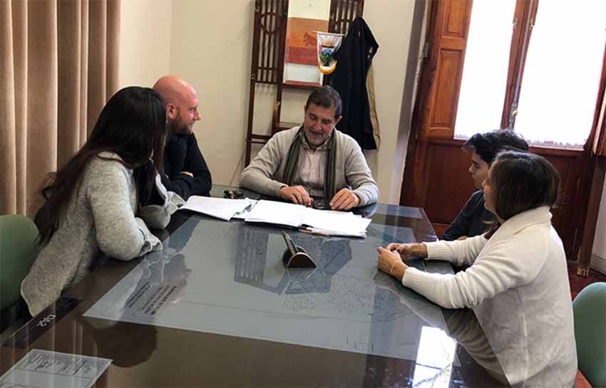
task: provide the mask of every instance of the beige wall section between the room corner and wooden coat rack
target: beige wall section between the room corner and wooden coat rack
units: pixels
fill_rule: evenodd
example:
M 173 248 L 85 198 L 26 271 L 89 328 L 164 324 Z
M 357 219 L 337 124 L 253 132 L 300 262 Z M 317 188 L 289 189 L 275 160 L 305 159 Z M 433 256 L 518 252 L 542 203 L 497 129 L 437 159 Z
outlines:
M 173 3 L 170 71 L 198 92 L 202 121 L 195 135 L 212 181 L 237 184 L 248 117 L 252 0 Z

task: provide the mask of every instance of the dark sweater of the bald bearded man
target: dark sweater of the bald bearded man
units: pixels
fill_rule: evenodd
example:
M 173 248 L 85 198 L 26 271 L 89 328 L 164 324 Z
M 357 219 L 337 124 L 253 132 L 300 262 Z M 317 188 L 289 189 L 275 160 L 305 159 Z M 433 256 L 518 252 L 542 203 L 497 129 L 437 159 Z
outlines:
M 191 172 L 193 177 L 181 172 Z M 194 134 L 171 134 L 164 150 L 162 183 L 170 192 L 187 200 L 190 195 L 208 195 L 212 187 L 210 170 L 200 152 Z

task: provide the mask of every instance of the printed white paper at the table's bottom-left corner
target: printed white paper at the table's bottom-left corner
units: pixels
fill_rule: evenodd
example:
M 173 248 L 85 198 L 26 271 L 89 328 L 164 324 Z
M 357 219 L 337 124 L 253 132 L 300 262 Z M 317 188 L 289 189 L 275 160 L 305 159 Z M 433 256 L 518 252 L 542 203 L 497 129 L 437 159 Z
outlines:
M 108 358 L 32 349 L 0 377 L 0 388 L 90 388 L 111 362 Z

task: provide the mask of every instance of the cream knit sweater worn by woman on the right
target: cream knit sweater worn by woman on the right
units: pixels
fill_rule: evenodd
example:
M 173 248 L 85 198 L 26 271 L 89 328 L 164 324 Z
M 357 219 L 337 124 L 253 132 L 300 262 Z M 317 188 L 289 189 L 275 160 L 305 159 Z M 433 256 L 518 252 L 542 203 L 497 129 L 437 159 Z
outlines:
M 445 308 L 473 308 L 510 384 L 572 387 L 577 353 L 566 257 L 548 207 L 520 213 L 486 240 L 426 243 L 456 275 L 409 268 L 402 283 Z

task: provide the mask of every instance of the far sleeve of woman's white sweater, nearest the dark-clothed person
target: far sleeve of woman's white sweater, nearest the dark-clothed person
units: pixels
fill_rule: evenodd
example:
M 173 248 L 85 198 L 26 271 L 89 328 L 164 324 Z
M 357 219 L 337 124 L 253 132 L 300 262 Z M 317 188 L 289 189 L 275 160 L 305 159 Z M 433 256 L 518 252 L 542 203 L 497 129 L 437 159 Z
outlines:
M 428 260 L 446 260 L 457 266 L 471 266 L 488 240 L 483 235 L 455 241 L 435 241 L 424 243 Z

